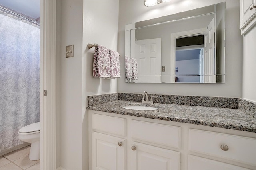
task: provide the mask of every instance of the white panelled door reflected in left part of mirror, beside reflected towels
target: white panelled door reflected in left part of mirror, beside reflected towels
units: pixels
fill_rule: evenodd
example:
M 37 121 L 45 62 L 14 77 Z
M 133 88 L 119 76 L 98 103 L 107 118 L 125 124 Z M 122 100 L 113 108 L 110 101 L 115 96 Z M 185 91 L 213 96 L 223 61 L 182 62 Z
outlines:
M 138 80 L 134 82 L 161 82 L 161 38 L 135 41 L 138 60 Z

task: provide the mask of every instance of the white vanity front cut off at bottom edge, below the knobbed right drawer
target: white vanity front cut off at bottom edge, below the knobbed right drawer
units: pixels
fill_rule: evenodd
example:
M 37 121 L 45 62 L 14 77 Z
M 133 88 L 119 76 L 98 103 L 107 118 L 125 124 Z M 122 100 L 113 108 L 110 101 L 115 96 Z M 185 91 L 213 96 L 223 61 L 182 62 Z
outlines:
M 188 155 L 188 170 L 249 170 L 240 166 Z

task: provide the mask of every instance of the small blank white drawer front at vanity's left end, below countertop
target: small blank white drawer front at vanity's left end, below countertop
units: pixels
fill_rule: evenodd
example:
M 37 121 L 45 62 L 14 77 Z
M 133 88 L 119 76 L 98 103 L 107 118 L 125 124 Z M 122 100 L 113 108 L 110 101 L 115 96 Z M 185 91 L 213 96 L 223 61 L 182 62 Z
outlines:
M 125 136 L 126 119 L 92 113 L 92 129 Z

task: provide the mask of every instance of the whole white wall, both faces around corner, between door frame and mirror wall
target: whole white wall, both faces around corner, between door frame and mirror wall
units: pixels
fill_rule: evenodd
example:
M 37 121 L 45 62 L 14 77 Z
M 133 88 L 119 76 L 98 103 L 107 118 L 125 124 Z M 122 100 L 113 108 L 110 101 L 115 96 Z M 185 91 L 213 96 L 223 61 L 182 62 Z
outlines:
M 87 44 L 117 51 L 118 0 L 58 0 L 57 17 L 57 167 L 87 170 L 86 97 L 117 92 L 117 80 L 92 77 L 94 47 Z M 65 58 L 72 44 L 74 57 Z

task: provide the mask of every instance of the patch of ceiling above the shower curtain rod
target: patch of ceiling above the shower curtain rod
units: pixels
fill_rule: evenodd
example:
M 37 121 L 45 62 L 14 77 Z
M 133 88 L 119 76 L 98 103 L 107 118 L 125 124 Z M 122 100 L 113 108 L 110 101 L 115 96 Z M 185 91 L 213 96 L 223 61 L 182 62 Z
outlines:
M 0 5 L 35 19 L 40 17 L 40 0 L 0 0 Z

